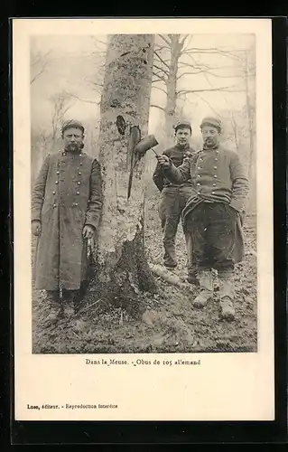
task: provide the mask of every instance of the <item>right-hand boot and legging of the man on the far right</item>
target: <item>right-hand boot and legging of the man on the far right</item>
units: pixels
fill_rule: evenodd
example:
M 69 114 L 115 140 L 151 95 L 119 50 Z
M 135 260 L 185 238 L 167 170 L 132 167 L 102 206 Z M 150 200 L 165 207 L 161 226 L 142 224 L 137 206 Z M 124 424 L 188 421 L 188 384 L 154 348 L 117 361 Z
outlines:
M 234 276 L 230 272 L 218 272 L 220 317 L 224 320 L 235 319 Z

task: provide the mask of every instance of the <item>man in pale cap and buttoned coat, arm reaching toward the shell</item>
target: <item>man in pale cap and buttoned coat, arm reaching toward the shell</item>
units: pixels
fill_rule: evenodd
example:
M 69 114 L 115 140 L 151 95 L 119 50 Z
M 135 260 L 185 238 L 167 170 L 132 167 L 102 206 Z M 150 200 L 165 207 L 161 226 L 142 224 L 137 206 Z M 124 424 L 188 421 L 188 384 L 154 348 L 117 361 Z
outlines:
M 248 181 L 237 153 L 220 144 L 221 122 L 204 118 L 200 129 L 204 145 L 195 158 L 178 168 L 165 155 L 158 157 L 158 163 L 172 182 L 193 180 L 193 193 L 182 212 L 200 280 L 200 294 L 193 306 L 206 306 L 213 297 L 211 269 L 215 268 L 220 315 L 233 320 L 234 266 L 244 255 L 241 226 Z

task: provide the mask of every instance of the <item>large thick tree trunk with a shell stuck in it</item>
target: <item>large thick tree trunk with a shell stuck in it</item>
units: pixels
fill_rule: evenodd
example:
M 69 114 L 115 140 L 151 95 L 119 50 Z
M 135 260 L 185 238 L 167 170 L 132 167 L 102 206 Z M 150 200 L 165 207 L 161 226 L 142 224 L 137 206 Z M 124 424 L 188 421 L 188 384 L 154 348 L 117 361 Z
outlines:
M 135 306 L 142 291 L 155 288 L 144 253 L 144 158 L 132 160 L 140 131 L 141 137 L 148 131 L 152 67 L 153 35 L 109 38 L 100 107 L 98 145 L 104 204 L 95 283 L 116 306 Z

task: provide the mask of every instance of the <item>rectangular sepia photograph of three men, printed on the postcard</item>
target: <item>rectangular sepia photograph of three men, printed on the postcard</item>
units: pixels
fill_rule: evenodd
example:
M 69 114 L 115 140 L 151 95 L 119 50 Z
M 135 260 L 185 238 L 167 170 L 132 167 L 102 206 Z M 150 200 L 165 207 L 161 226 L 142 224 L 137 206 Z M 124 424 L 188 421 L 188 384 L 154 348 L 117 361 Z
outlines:
M 256 353 L 255 34 L 29 49 L 33 353 Z

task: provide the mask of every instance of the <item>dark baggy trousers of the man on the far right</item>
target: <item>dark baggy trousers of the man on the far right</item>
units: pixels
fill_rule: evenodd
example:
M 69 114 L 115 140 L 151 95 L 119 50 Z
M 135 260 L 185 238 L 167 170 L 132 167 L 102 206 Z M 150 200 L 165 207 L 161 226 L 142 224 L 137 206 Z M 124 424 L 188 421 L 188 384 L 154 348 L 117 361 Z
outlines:
M 198 270 L 233 271 L 236 221 L 237 212 L 222 202 L 201 202 L 187 215 Z

